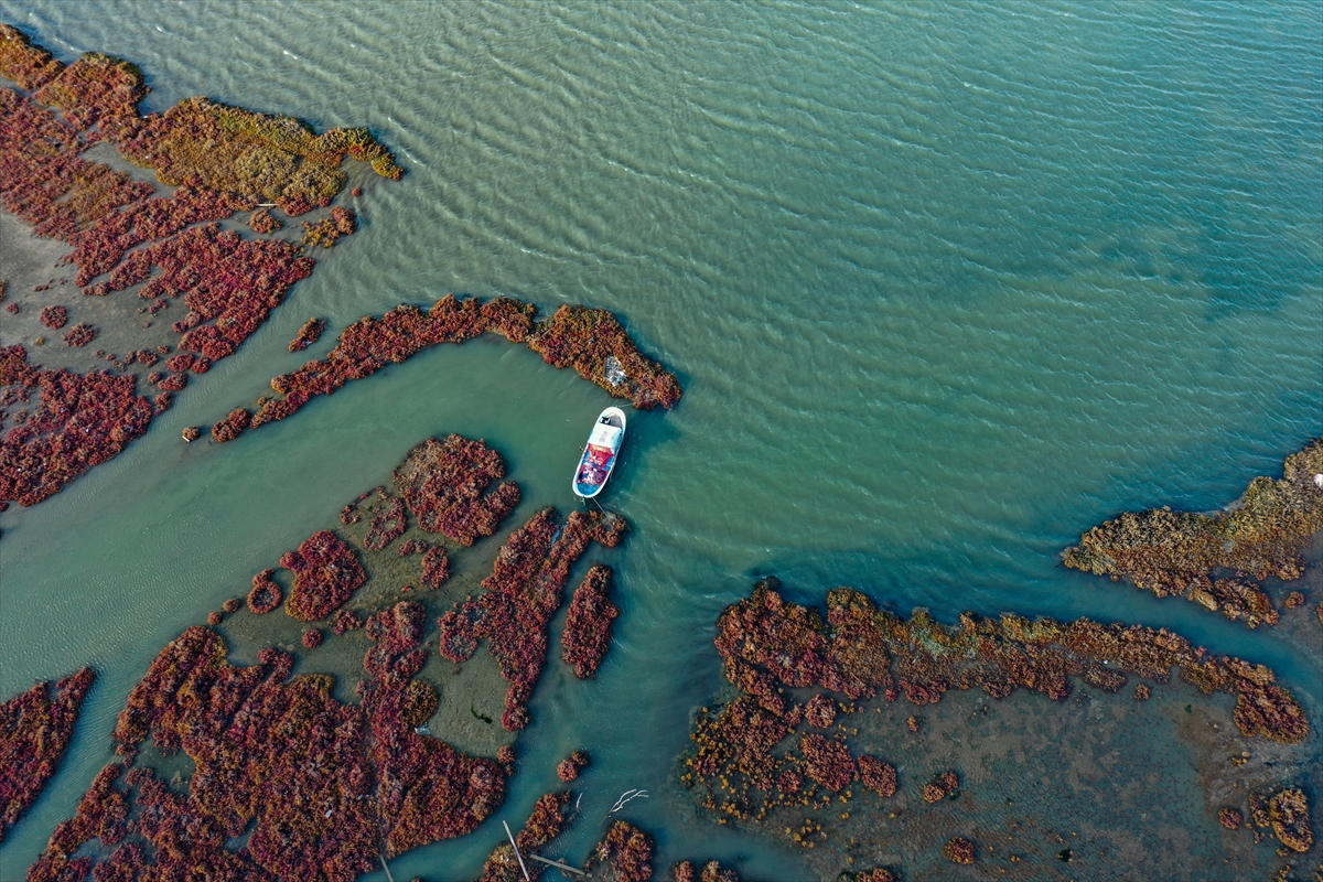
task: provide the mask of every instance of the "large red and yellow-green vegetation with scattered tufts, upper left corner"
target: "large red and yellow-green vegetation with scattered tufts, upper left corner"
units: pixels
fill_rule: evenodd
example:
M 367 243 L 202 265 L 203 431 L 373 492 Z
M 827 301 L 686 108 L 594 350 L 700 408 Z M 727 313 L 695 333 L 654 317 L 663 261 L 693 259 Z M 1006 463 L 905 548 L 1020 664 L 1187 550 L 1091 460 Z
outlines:
M 36 235 L 71 246 L 65 261 L 78 266 L 75 284 L 83 294 L 107 295 L 146 282 L 140 295 L 152 300 L 146 308 L 152 316 L 169 305 L 167 298 L 187 295 L 189 313 L 175 331 L 187 336 L 185 348 L 208 360 L 225 357 L 251 335 L 290 284 L 311 272 L 312 261 L 287 242 L 241 242 L 214 223 L 194 225 L 261 200 L 278 200 L 291 210 L 328 205 L 344 185 L 337 167 L 345 156 L 370 163 L 386 177 L 401 173 L 361 128 L 315 135 L 298 120 L 205 98 L 140 116 L 138 104 L 148 90 L 131 63 L 87 53 L 65 66 L 8 25 L 0 25 L 0 74 L 32 93 L 0 90 L 0 206 Z M 151 184 L 83 159 L 97 141 L 114 144 L 179 189 L 159 198 Z M 250 222 L 263 230 L 278 226 L 265 212 Z M 337 234 L 353 226 L 347 209 L 332 209 L 331 222 Z M 105 274 L 105 282 L 94 283 Z M 8 308 L 19 311 L 17 304 Z M 64 325 L 60 309 L 45 313 L 53 328 Z M 83 346 L 95 335 L 79 324 L 65 342 Z M 194 373 L 204 373 L 208 360 L 194 362 Z M 172 377 L 163 391 L 179 391 L 184 382 Z M 168 405 L 168 398 L 157 399 L 157 410 Z M 70 461 L 79 463 L 77 473 L 86 471 L 83 459 Z

